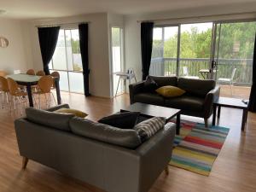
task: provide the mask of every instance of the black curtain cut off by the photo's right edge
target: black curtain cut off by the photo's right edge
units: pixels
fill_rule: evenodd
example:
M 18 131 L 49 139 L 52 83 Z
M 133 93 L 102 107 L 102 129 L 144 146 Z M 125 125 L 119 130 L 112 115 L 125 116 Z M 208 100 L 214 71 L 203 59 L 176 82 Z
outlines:
M 255 34 L 255 43 L 254 43 L 254 52 L 253 52 L 253 84 L 250 94 L 250 100 L 248 109 L 251 112 L 256 112 L 256 34 Z

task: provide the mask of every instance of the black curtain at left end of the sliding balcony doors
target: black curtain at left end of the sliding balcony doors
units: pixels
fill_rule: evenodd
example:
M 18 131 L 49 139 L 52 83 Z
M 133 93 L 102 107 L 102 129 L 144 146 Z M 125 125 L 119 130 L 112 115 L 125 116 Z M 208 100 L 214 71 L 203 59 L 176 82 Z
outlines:
M 152 46 L 153 46 L 153 22 L 143 22 L 141 24 L 141 48 L 142 48 L 142 64 L 143 64 L 143 80 L 149 73 Z

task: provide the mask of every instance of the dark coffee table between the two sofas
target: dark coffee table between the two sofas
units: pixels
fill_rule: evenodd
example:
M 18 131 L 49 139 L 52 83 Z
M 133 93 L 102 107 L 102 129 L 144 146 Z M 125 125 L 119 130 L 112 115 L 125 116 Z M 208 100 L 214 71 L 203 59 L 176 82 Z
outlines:
M 123 111 L 131 111 L 131 112 L 140 112 L 143 116 L 152 118 L 152 117 L 163 117 L 166 118 L 166 123 L 169 122 L 170 119 L 176 116 L 176 133 L 179 135 L 180 129 L 180 109 L 176 108 L 165 108 L 157 105 L 150 105 L 141 102 L 135 102 L 131 104 L 127 108 L 122 108 Z

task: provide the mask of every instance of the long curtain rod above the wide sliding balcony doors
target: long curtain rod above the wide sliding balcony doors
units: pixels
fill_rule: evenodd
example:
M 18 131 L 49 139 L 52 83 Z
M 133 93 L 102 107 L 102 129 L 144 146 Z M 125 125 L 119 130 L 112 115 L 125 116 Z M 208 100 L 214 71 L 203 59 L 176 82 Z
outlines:
M 243 12 L 243 13 L 232 13 L 232 14 L 220 14 L 220 15 L 203 15 L 203 16 L 193 16 L 193 17 L 177 17 L 177 18 L 165 18 L 165 19 L 157 19 L 157 20 L 137 20 L 138 23 L 141 22 L 154 22 L 154 21 L 165 21 L 165 20 L 184 20 L 184 19 L 201 19 L 201 18 L 207 18 L 207 17 L 216 17 L 216 16 L 232 16 L 232 15 L 247 15 L 247 14 L 255 14 L 256 19 L 256 12 Z

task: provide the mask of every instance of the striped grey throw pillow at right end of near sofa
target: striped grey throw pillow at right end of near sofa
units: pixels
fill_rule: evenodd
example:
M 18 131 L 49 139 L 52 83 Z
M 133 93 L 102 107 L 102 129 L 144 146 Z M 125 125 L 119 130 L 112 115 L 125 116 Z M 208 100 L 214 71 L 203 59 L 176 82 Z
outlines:
M 162 117 L 154 117 L 137 124 L 134 129 L 138 132 L 142 142 L 153 137 L 154 134 L 166 125 L 166 119 Z

